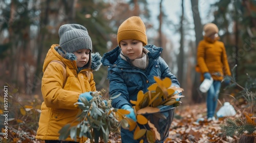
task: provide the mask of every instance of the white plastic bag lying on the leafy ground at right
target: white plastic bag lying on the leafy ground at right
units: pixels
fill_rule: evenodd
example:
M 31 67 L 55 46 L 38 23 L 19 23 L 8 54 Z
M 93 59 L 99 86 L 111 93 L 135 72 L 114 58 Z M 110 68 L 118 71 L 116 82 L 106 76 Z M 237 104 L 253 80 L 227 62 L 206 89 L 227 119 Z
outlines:
M 229 102 L 225 102 L 224 105 L 217 112 L 217 117 L 234 116 L 237 112 Z

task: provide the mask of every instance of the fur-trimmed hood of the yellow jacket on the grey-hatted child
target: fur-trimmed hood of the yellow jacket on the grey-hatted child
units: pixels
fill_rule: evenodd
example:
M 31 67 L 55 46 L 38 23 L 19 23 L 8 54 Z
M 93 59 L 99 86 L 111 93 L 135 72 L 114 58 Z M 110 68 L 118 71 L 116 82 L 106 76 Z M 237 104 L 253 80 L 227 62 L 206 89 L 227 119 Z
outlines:
M 91 65 L 91 70 L 99 70 L 100 66 L 101 66 L 101 56 L 99 53 L 92 53 L 91 54 L 91 58 L 92 58 L 92 65 Z M 48 64 L 52 61 L 52 60 L 58 60 L 58 61 L 62 61 L 63 63 L 65 63 L 69 68 L 76 68 L 76 60 L 77 57 L 73 54 L 73 53 L 66 53 L 59 48 L 58 44 L 53 44 L 50 48 L 50 50 L 48 51 L 45 61 L 44 61 L 44 65 L 42 68 L 42 71 L 45 71 L 46 67 L 48 66 Z M 81 67 L 81 69 L 83 69 L 83 67 Z M 79 70 L 81 70 L 79 69 Z M 77 69 L 78 70 L 78 69 Z

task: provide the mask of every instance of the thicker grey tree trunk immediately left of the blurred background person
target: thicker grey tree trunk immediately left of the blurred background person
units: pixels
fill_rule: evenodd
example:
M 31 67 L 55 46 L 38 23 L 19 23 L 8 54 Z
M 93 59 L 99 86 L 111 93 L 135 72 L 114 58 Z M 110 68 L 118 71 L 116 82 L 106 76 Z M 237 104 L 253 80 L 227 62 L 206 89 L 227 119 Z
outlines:
M 195 25 L 195 33 L 196 33 L 196 48 L 195 48 L 195 57 L 197 57 L 197 46 L 199 41 L 202 39 L 202 24 L 201 24 L 201 18 L 200 18 L 200 13 L 198 10 L 198 0 L 191 0 L 191 9 L 193 12 L 193 18 L 194 18 L 194 25 Z M 195 60 L 196 61 L 196 60 Z M 196 61 L 197 62 L 197 61 Z M 196 65 L 196 63 L 195 63 Z M 195 103 L 200 103 L 202 102 L 202 99 L 198 95 L 198 87 L 200 86 L 200 74 L 195 73 L 194 77 L 194 84 L 192 88 L 192 99 Z

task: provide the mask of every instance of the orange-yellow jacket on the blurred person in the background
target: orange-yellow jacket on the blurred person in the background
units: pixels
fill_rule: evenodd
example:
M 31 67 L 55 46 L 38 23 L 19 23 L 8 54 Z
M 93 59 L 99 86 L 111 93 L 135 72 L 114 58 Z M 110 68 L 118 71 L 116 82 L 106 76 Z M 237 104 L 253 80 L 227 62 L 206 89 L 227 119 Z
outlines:
M 197 50 L 201 81 L 204 80 L 203 74 L 206 72 L 210 73 L 211 77 L 217 81 L 223 80 L 224 75 L 231 75 L 223 42 L 204 37 L 204 40 L 199 42 Z

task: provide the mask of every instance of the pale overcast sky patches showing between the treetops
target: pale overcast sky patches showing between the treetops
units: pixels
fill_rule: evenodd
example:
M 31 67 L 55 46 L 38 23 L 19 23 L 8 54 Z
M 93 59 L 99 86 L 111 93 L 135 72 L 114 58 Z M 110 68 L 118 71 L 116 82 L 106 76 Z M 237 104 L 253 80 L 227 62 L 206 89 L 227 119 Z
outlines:
M 200 17 L 202 25 L 204 25 L 207 22 L 211 22 L 214 17 L 209 14 L 209 6 L 210 4 L 216 3 L 218 0 L 214 1 L 205 1 L 205 0 L 199 0 L 199 11 L 200 11 Z M 159 2 L 160 0 L 147 0 L 149 4 L 149 9 L 151 10 L 152 20 L 157 18 L 159 15 Z M 168 20 L 172 20 L 175 25 L 180 24 L 180 16 L 181 16 L 181 1 L 175 1 L 175 0 L 163 0 L 163 10 L 165 14 L 168 16 Z M 191 29 L 194 28 L 194 20 L 193 20 L 193 14 L 191 11 L 191 2 L 190 0 L 184 0 L 184 17 L 188 20 L 188 23 L 186 24 L 186 27 L 189 27 Z M 156 20 L 157 21 L 157 20 Z M 158 24 L 154 25 L 156 29 L 158 29 Z M 177 29 L 173 26 L 166 27 L 163 26 L 162 31 L 170 37 L 170 40 L 173 41 L 175 45 L 175 49 L 179 48 L 179 39 L 180 35 L 177 32 Z M 176 34 L 177 33 L 177 34 Z M 192 36 L 191 36 L 192 35 Z M 190 38 L 192 40 L 195 40 L 195 32 L 191 31 L 189 35 L 187 35 L 187 38 Z

